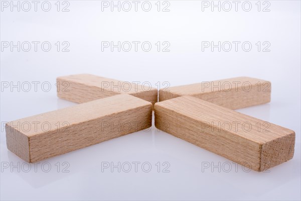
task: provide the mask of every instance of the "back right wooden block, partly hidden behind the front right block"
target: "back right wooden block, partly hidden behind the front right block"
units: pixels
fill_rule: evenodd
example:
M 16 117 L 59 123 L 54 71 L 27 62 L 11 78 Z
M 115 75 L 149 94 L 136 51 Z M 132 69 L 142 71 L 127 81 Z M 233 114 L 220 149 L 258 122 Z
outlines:
M 271 83 L 251 77 L 235 77 L 174 86 L 161 89 L 159 91 L 159 101 L 182 95 L 191 95 L 235 110 L 270 102 Z

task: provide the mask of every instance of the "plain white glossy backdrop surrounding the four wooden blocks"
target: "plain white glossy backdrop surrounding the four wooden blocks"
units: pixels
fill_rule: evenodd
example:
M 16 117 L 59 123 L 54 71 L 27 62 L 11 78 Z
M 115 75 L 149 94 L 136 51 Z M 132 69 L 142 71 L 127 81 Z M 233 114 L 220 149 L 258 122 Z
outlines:
M 37 51 L 34 46 L 29 52 L 22 48 L 20 52 L 17 48 L 1 51 L 2 86 L 10 83 L 1 92 L 1 163 L 10 165 L 1 172 L 1 199 L 300 200 L 300 1 L 269 1 L 270 12 L 262 12 L 267 6 L 263 2 L 258 12 L 257 1 L 250 1 L 249 12 L 243 11 L 242 2 L 237 12 L 233 3 L 229 12 L 217 8 L 202 11 L 201 1 L 169 1 L 170 12 L 158 12 L 156 2 L 151 2 L 149 12 L 141 9 L 142 2 L 137 12 L 134 8 L 129 12 L 104 8 L 102 12 L 101 1 L 69 1 L 69 12 L 61 12 L 67 5 L 62 2 L 58 12 L 56 1 L 50 2 L 49 12 L 41 9 L 42 2 L 37 12 L 34 4 L 29 12 L 2 7 L 2 42 L 49 41 L 52 47 L 48 52 L 41 45 Z M 57 41 L 61 45 L 67 41 L 69 52 L 58 52 Z M 152 49 L 144 52 L 138 46 L 137 52 L 118 52 L 117 48 L 101 51 L 101 41 L 149 41 Z M 158 41 L 168 41 L 170 51 L 158 52 Z M 246 52 L 240 45 L 237 52 L 234 47 L 229 52 L 217 48 L 202 51 L 202 41 L 249 41 L 252 49 Z M 270 51 L 258 52 L 258 41 L 261 45 L 269 42 Z M 268 172 L 248 172 L 153 126 L 149 132 L 136 132 L 41 161 L 37 172 L 34 165 L 25 172 L 27 164 L 7 149 L 3 122 L 75 105 L 56 96 L 55 82 L 57 76 L 76 73 L 149 81 L 154 87 L 159 81 L 175 86 L 236 76 L 269 80 L 269 104 L 237 111 L 294 130 L 294 157 Z M 40 81 L 37 92 L 34 85 L 29 92 L 11 88 L 11 84 L 26 81 Z M 51 83 L 51 90 L 43 91 L 42 82 Z M 11 169 L 18 162 L 20 172 Z M 42 170 L 46 162 L 51 165 L 49 172 Z M 140 165 L 137 172 L 134 166 L 130 172 L 118 172 L 117 168 L 102 172 L 102 162 Z M 149 172 L 141 169 L 143 162 L 152 165 Z M 163 172 L 163 162 L 170 164 L 170 172 Z M 218 168 L 202 168 L 208 163 L 220 166 L 220 172 Z M 229 164 L 232 167 L 227 172 Z M 63 172 L 67 165 L 69 172 Z

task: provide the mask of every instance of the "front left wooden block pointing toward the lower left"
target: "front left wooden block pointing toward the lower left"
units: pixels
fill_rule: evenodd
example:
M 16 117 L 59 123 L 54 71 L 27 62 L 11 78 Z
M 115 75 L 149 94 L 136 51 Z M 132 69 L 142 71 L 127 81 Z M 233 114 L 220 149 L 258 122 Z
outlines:
M 152 126 L 152 104 L 119 94 L 7 124 L 8 149 L 36 162 Z

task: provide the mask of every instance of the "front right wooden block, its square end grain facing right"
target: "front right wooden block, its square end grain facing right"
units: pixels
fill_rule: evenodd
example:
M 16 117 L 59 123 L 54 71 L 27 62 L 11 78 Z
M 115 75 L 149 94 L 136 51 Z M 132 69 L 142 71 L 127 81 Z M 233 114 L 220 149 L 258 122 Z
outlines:
M 292 158 L 292 130 L 193 96 L 155 104 L 158 129 L 234 162 L 263 171 Z

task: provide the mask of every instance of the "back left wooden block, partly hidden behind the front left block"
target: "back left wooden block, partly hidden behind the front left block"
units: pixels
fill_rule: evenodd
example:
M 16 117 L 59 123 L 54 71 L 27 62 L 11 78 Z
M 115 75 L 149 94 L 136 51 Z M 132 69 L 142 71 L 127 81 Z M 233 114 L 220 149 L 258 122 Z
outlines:
M 130 94 L 153 105 L 158 100 L 158 89 L 137 82 L 126 82 L 90 74 L 77 74 L 57 78 L 58 96 L 75 103 L 85 103 L 116 94 Z

